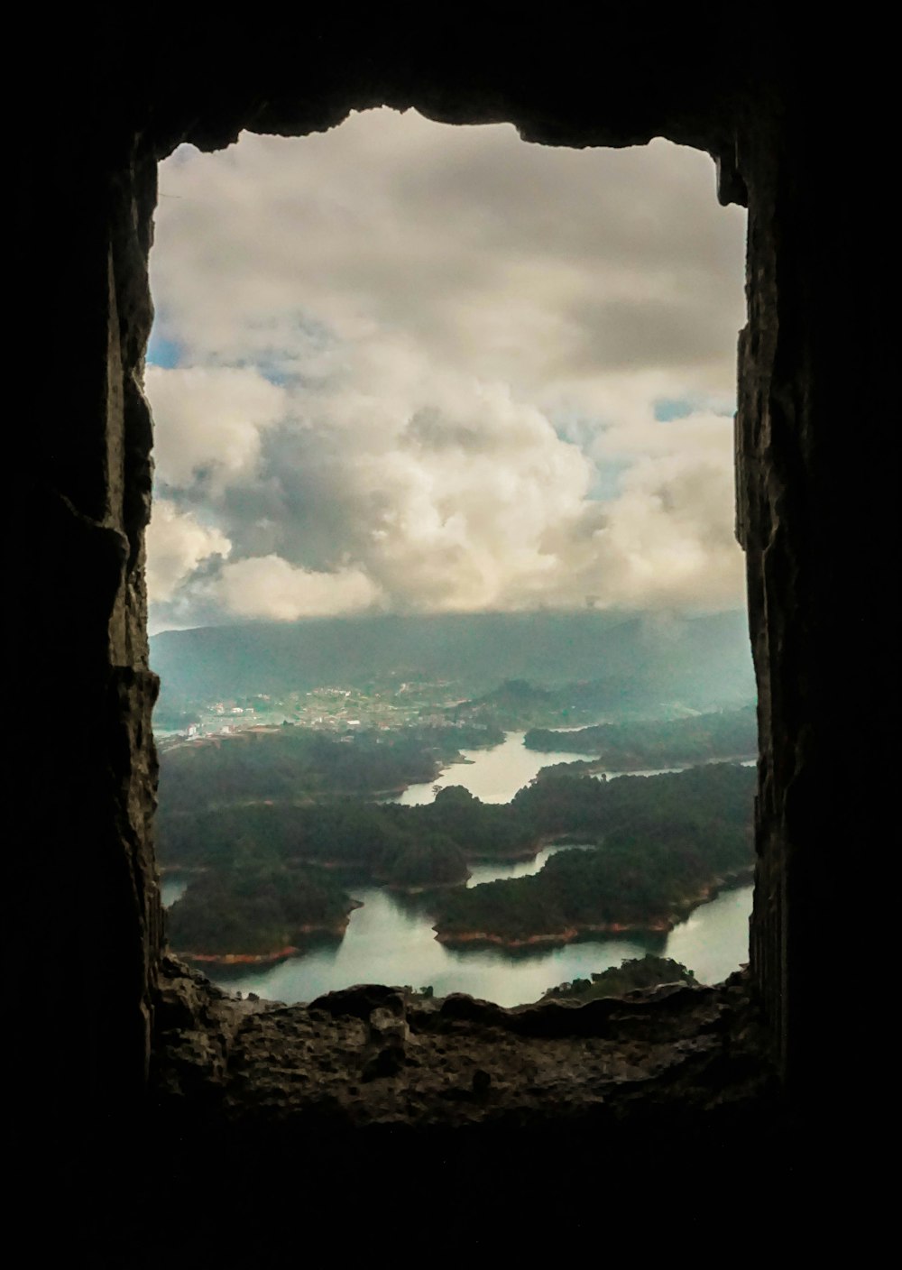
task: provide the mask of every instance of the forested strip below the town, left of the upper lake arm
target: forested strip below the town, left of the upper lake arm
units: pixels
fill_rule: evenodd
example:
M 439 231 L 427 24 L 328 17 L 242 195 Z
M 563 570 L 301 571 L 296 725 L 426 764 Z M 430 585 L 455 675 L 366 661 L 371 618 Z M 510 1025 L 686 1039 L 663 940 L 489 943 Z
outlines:
M 338 738 L 310 728 L 241 732 L 166 751 L 160 761 L 165 812 L 255 800 L 375 794 L 432 781 L 461 747 L 497 745 L 495 728 L 419 726 Z

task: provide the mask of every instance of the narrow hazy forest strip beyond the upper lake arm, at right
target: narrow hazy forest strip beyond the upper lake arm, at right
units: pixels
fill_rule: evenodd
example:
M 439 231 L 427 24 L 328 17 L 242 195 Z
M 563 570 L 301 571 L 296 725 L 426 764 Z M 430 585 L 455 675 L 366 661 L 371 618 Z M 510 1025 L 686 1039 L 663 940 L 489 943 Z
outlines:
M 526 733 L 527 749 L 597 754 L 611 771 L 673 763 L 704 763 L 757 753 L 755 706 L 692 715 L 689 719 L 598 724 L 574 732 L 536 728 Z

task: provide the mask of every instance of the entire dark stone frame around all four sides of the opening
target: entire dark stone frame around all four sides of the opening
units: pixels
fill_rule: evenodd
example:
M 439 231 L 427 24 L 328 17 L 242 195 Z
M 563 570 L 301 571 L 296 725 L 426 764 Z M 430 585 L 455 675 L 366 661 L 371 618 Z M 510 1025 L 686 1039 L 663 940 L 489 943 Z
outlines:
M 825 27 L 818 33 L 825 44 L 813 56 L 809 28 L 793 33 L 785 23 L 750 23 L 725 10 L 717 20 L 662 13 L 654 24 L 644 10 L 611 11 L 605 30 L 586 39 L 565 22 L 544 22 L 541 29 L 506 23 L 501 30 L 487 18 L 474 32 L 448 20 L 438 43 L 384 15 L 361 19 L 353 30 L 310 15 L 310 29 L 293 41 L 276 39 L 263 27 L 239 38 L 206 14 L 185 13 L 180 38 L 163 48 L 147 41 L 144 15 L 127 10 L 116 24 L 105 14 L 91 23 L 90 38 L 83 30 L 69 39 L 71 20 L 64 17 L 58 29 L 34 42 L 46 74 L 36 91 L 38 123 L 23 146 L 25 216 L 13 262 L 20 271 L 20 325 L 29 333 L 18 375 L 41 387 L 25 403 L 27 424 L 17 429 L 24 479 L 10 483 L 15 593 L 29 615 L 17 665 L 47 668 L 48 682 L 60 686 L 79 719 L 74 743 L 71 729 L 33 707 L 34 677 L 13 677 L 14 701 L 22 704 L 11 761 L 18 794 L 41 810 L 30 824 L 30 850 L 13 853 L 10 879 L 11 940 L 34 949 L 32 973 L 17 983 L 17 1036 L 25 1038 L 14 1046 L 20 1083 L 13 1114 L 27 1144 L 22 1168 L 30 1162 L 46 1190 L 70 1199 L 72 1179 L 81 1179 L 79 1198 L 90 1199 L 80 1206 L 84 1218 L 97 1208 L 98 1167 L 123 1203 L 138 1208 L 135 1180 L 156 1181 L 158 1166 L 172 1163 L 173 1133 L 180 1142 L 212 1142 L 215 1158 L 230 1167 L 252 1144 L 271 1165 L 297 1168 L 299 1160 L 311 1158 L 318 1167 L 326 1160 L 340 1165 L 353 1143 L 360 1156 L 347 1153 L 342 1176 L 358 1194 L 367 1167 L 376 1177 L 387 1172 L 380 1151 L 399 1139 L 415 1142 L 409 1158 L 421 1166 L 448 1158 L 454 1143 L 462 1177 L 468 1142 L 470 1160 L 485 1163 L 481 1180 L 504 1167 L 513 1176 L 527 1142 L 520 1129 L 530 1128 L 530 1147 L 541 1139 L 560 1163 L 555 1212 L 564 1214 L 573 1194 L 596 1212 L 597 1195 L 586 1189 L 565 1195 L 574 1175 L 563 1162 L 593 1158 L 600 1132 L 631 1124 L 644 1148 L 663 1149 L 675 1137 L 689 1146 L 717 1138 L 730 1158 L 748 1161 L 748 1194 L 772 1184 L 774 1195 L 791 1194 L 794 1206 L 798 1190 L 784 1167 L 791 1134 L 780 1099 L 790 1099 L 808 1134 L 808 1163 L 817 1163 L 819 1151 L 836 1161 L 830 1135 L 849 1128 L 856 1106 L 849 1080 L 856 1068 L 847 1063 L 837 998 L 854 999 L 860 983 L 852 991 L 849 966 L 831 965 L 825 974 L 823 914 L 845 911 L 850 845 L 858 851 L 884 839 L 894 789 L 874 772 L 875 756 L 894 747 L 892 716 L 873 679 L 875 665 L 894 659 L 878 585 L 891 561 L 887 544 L 894 542 L 894 470 L 874 462 L 873 446 L 858 444 L 885 433 L 885 399 L 875 386 L 885 367 L 888 296 L 875 279 L 884 277 L 887 239 L 879 199 L 861 197 L 852 180 L 826 180 L 844 147 L 859 170 L 884 166 L 878 124 L 888 114 L 880 97 L 891 76 L 875 66 L 873 30 L 865 38 L 865 24 L 855 18 L 836 30 Z M 747 202 L 750 212 L 737 425 L 738 527 L 748 560 L 761 739 L 750 974 L 734 989 L 736 1010 L 715 993 L 699 1027 L 690 1026 L 680 1001 L 656 1011 L 654 1022 L 650 1011 L 605 1022 L 609 1039 L 616 1033 L 625 1043 L 623 1029 L 631 1030 L 630 1043 L 647 1055 L 658 1025 L 657 1035 L 683 1054 L 701 1055 L 701 1036 L 720 1038 L 723 1046 L 708 1050 L 704 1078 L 691 1064 L 685 1085 L 657 1082 L 647 1072 L 652 1078 L 640 1086 L 619 1083 L 623 1102 L 617 1095 L 589 1105 L 569 1078 L 542 1082 L 550 1068 L 536 1041 L 528 1071 L 520 1068 L 528 1099 L 493 1104 L 493 1090 L 501 1096 L 504 1085 L 517 1082 L 479 1064 L 488 1086 L 471 1068 L 469 1083 L 451 1086 L 466 1097 L 442 1101 L 459 1113 L 454 1128 L 447 1116 L 421 1111 L 426 1132 L 415 1138 L 408 1135 L 415 1109 L 399 1116 L 380 1102 L 390 1076 L 366 1082 L 362 1097 L 372 1101 L 361 1115 L 371 1116 L 371 1137 L 358 1132 L 361 1119 L 328 1097 L 314 1115 L 291 1113 L 279 1054 L 285 1045 L 314 1053 L 311 1033 L 332 1029 L 329 1019 L 263 1019 L 257 1043 L 240 1041 L 241 1063 L 226 1092 L 225 1053 L 240 1033 L 220 1001 L 175 972 L 161 945 L 152 864 L 155 683 L 141 577 L 151 427 L 140 377 L 151 323 L 146 258 L 156 160 L 187 138 L 216 147 L 243 127 L 302 135 L 335 123 L 349 108 L 386 103 L 447 122 L 506 118 L 546 144 L 626 145 L 652 135 L 694 144 L 718 156 L 724 196 Z M 75 126 L 62 128 L 64 118 Z M 66 244 L 77 250 L 56 249 L 64 226 Z M 837 314 L 854 314 L 855 321 L 837 321 Z M 48 339 L 32 338 L 46 331 L 48 319 L 67 320 L 52 361 Z M 868 791 L 866 799 L 838 796 L 837 756 L 845 785 Z M 69 968 L 64 975 L 61 966 Z M 86 991 L 89 980 L 100 980 L 103 992 Z M 390 1021 L 372 1015 L 393 1015 L 391 1002 L 356 1008 L 334 1026 L 382 1027 L 387 1035 Z M 744 1022 L 729 1022 L 743 1011 Z M 682 1034 L 681 1019 L 689 1029 Z M 503 1049 L 522 1053 L 520 1038 L 494 1017 L 446 1022 L 448 1036 L 455 1029 L 460 1038 L 468 1029 L 483 1039 L 501 1031 Z M 415 1026 L 414 1020 L 414 1033 Z M 559 1022 L 528 1026 L 548 1034 Z M 367 1044 L 368 1036 L 365 1031 Z M 550 1043 L 546 1035 L 539 1040 Z M 427 1048 L 443 1044 L 432 1035 Z M 559 1076 L 586 1060 L 574 1036 L 567 1045 L 563 1063 L 551 1064 Z M 163 1085 L 160 1064 L 173 1048 L 180 1050 L 180 1076 Z M 772 1062 L 771 1083 L 748 1083 L 751 1055 L 758 1073 L 762 1062 Z M 670 1101 L 667 1088 L 675 1092 Z M 588 1090 L 584 1085 L 583 1093 Z M 91 1170 L 84 1168 L 85 1142 L 99 1144 Z M 363 1151 L 365 1142 L 372 1151 Z M 311 1144 L 325 1152 L 329 1143 L 334 1154 L 310 1153 Z M 400 1152 L 391 1156 L 399 1158 Z M 198 1172 L 191 1153 L 180 1167 L 185 1180 Z M 426 1201 L 424 1190 L 417 1194 Z M 389 1198 L 386 1187 L 380 1195 Z M 769 1206 L 770 1199 L 762 1204 Z M 644 1231 L 648 1212 L 642 1215 Z M 194 1212 L 183 1229 L 191 1233 L 192 1223 Z M 221 1242 L 240 1234 L 232 1223 Z

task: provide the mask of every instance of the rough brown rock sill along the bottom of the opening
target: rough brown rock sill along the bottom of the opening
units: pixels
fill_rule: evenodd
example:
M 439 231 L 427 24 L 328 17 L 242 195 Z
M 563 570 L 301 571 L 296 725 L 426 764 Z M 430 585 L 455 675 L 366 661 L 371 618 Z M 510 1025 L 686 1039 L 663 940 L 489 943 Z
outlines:
M 240 1001 L 175 961 L 160 998 L 154 1096 L 179 1118 L 203 1093 L 234 1125 L 306 1132 L 396 1124 L 664 1119 L 766 1105 L 779 1115 L 743 975 L 586 1005 L 506 1010 L 360 986 L 307 1006 Z M 761 1104 L 760 1100 L 764 1100 Z

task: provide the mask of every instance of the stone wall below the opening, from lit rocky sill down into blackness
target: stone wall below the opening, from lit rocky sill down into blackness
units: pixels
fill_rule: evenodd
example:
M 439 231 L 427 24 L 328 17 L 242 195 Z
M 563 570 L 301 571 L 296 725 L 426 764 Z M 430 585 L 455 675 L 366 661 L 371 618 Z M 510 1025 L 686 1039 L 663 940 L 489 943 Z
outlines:
M 235 1001 L 175 959 L 164 983 L 147 1142 L 179 1196 L 154 1245 L 166 1264 L 173 1247 L 255 1264 L 263 1243 L 296 1256 L 318 1237 L 438 1265 L 531 1266 L 587 1242 L 635 1256 L 657 1233 L 672 1251 L 734 1228 L 765 1170 L 776 1190 L 798 1167 L 742 974 L 517 1010 L 377 986 Z

